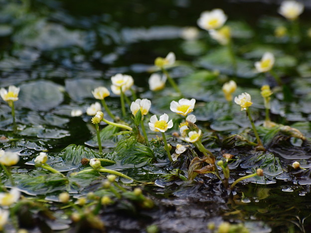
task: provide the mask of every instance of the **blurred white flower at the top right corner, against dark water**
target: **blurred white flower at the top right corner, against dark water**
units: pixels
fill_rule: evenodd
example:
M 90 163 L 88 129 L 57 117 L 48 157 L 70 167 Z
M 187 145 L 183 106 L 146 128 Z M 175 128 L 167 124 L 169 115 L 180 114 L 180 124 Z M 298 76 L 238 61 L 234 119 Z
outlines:
M 283 1 L 279 13 L 290 20 L 295 20 L 304 11 L 304 4 L 294 0 Z

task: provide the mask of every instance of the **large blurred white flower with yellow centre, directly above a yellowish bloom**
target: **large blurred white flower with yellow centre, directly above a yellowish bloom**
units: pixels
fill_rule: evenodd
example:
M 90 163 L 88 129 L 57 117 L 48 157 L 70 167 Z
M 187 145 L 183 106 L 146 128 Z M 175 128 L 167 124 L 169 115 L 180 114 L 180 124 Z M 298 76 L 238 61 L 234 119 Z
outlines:
M 222 27 L 226 20 L 227 16 L 222 9 L 213 9 L 202 12 L 200 18 L 197 20 L 197 24 L 202 29 L 211 30 Z

